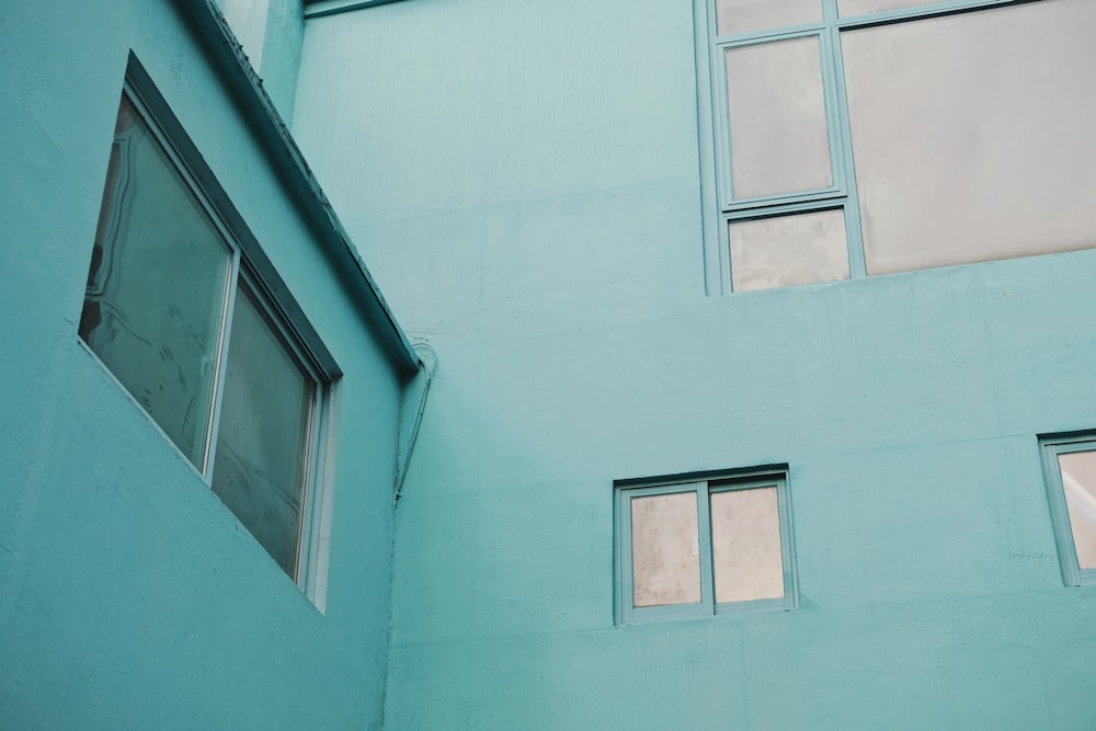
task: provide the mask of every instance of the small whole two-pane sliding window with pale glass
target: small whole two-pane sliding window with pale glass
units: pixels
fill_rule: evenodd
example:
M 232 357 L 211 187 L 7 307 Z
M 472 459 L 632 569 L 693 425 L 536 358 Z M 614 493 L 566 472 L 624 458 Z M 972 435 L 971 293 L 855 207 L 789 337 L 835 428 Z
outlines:
M 798 603 L 786 468 L 616 486 L 619 624 Z

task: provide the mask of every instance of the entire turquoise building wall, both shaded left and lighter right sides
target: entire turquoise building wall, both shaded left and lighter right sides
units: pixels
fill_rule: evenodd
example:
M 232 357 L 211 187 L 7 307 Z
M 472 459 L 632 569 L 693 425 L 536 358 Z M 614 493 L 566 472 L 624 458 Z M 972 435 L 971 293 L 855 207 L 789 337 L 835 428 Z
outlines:
M 422 378 L 198 4 L 0 14 L 0 728 L 1093 728 L 1037 435 L 1096 427 L 1096 250 L 710 296 L 690 2 L 271 0 L 438 354 L 393 510 Z M 130 52 L 345 373 L 322 612 L 77 335 Z M 772 464 L 798 608 L 616 626 L 614 481 Z

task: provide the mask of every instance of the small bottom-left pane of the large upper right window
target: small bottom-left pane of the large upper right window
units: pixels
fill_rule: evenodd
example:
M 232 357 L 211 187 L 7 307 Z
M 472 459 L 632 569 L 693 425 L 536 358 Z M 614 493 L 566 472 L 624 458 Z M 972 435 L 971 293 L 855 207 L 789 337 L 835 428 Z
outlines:
M 848 278 L 841 210 L 732 222 L 729 237 L 734 292 Z

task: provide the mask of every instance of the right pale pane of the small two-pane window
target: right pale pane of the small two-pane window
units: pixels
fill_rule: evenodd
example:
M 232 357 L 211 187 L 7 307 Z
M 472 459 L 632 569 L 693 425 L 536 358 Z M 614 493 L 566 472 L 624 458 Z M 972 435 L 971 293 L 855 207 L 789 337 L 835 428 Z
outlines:
M 776 488 L 711 494 L 716 603 L 784 596 Z

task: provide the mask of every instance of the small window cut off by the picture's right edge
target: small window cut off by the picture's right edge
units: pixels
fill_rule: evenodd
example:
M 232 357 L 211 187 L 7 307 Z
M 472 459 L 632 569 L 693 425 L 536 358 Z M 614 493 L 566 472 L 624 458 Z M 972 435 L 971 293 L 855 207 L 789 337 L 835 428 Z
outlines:
M 1062 576 L 1068 586 L 1096 583 L 1096 433 L 1040 443 Z

